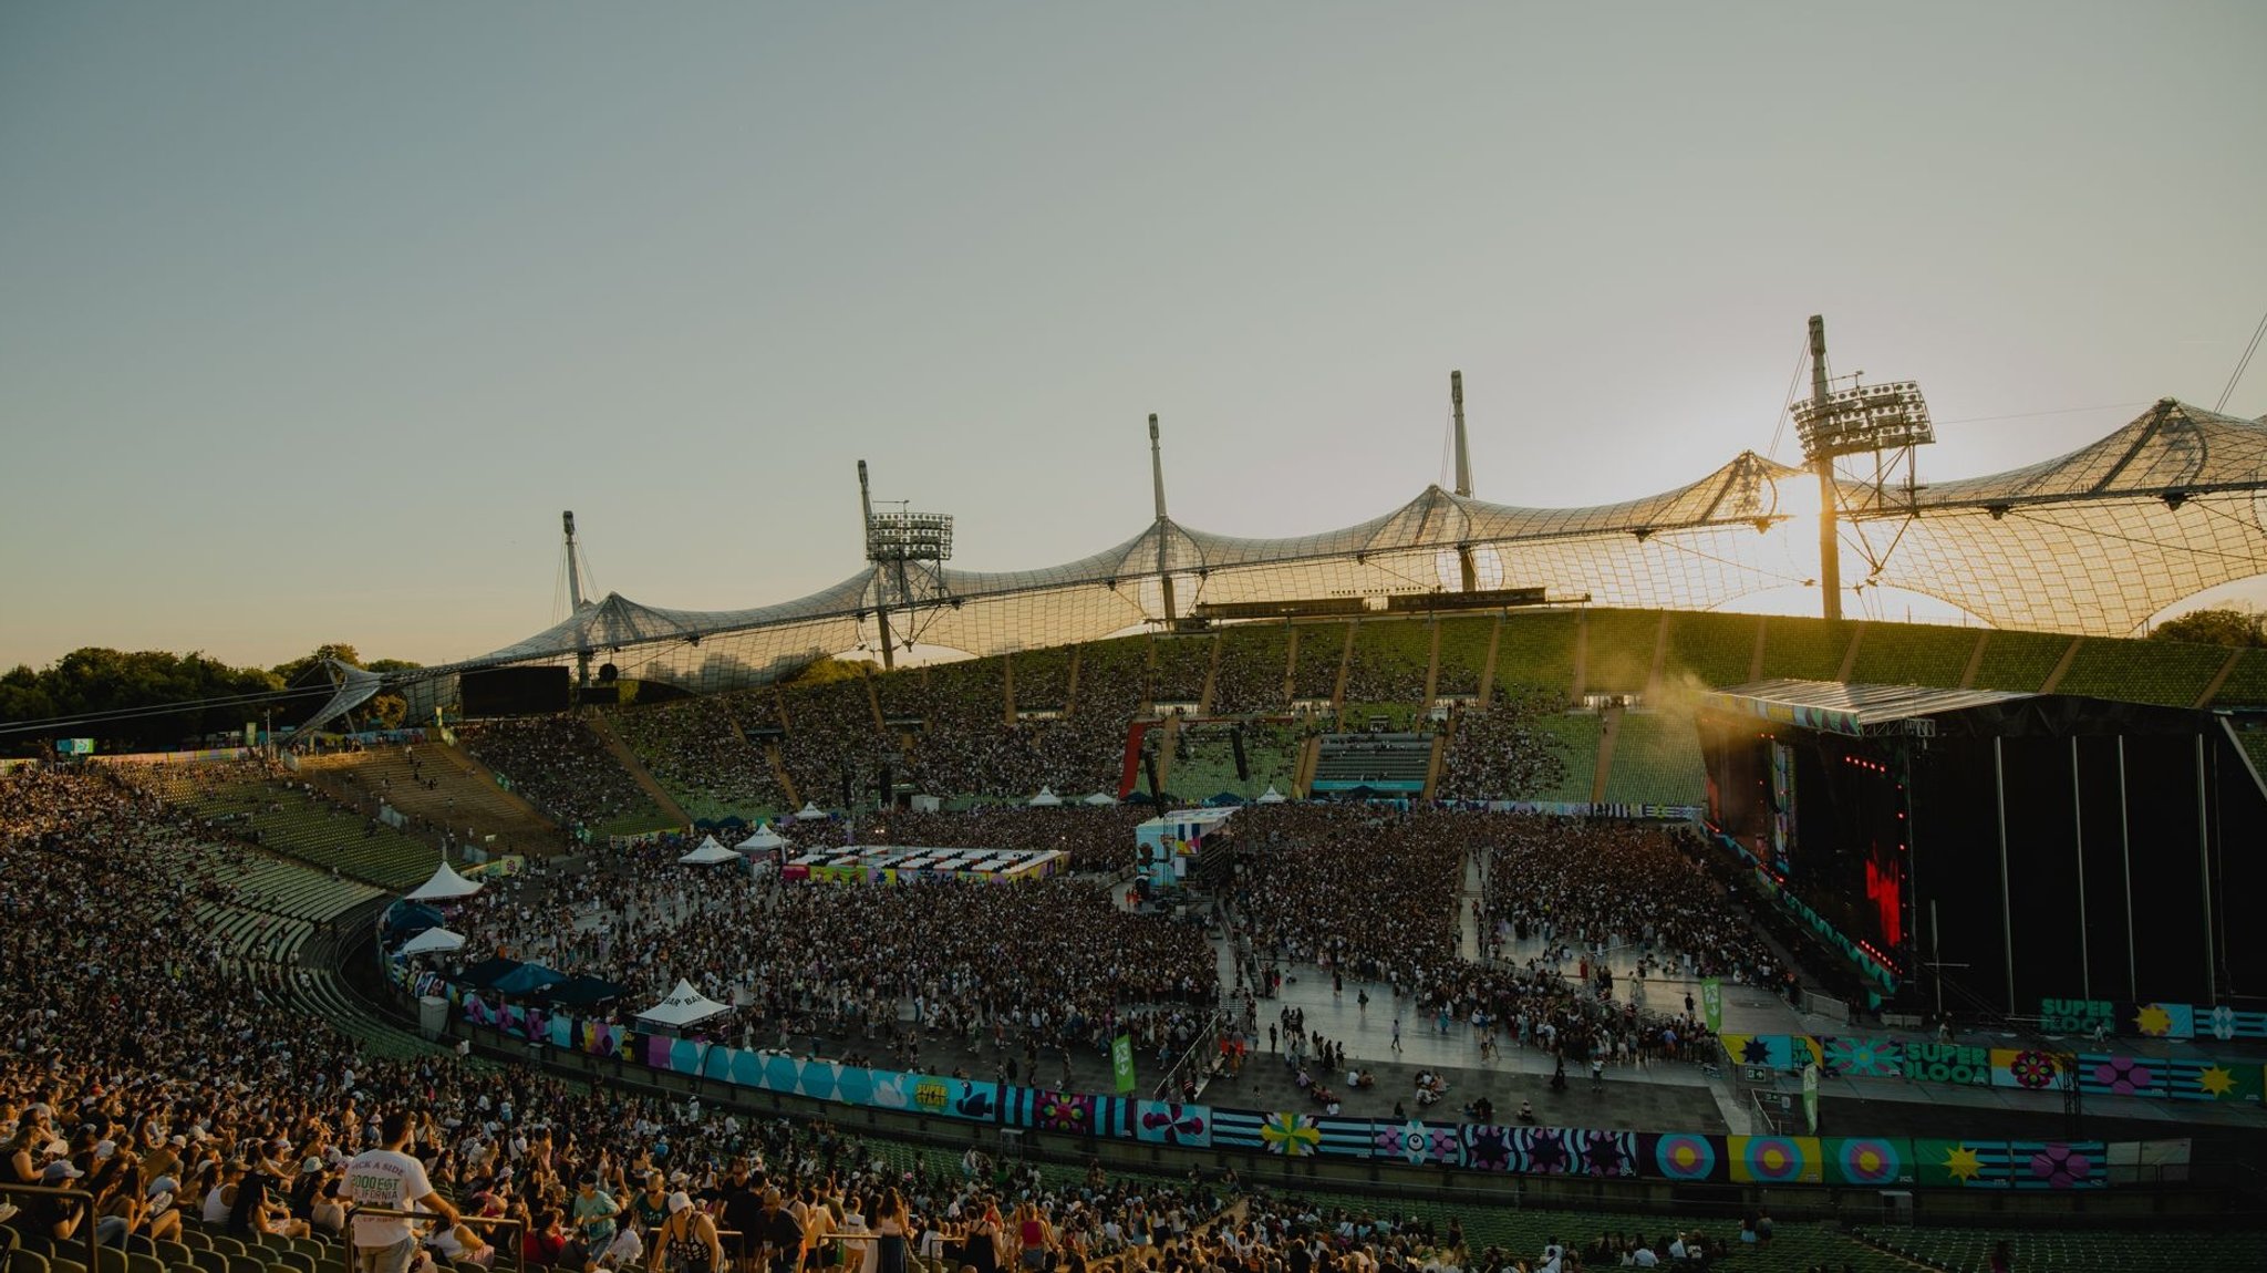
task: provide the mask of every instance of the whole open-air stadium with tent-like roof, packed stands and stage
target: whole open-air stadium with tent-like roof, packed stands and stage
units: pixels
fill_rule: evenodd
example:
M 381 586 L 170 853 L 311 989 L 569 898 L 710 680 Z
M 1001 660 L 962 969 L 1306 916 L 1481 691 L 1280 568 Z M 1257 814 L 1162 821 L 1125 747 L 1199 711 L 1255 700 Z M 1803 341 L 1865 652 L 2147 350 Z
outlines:
M 7 897 L 77 917 L 7 926 L 11 1268 L 345 1259 L 349 1099 L 458 1268 L 676 1191 L 775 1268 L 2258 1266 L 2267 650 L 2147 632 L 2267 575 L 2267 421 L 1920 482 L 1918 387 L 1811 367 L 1805 467 L 1580 510 L 1474 494 L 1453 378 L 1453 489 L 1288 539 L 1168 514 L 1152 417 L 1115 546 L 868 501 L 732 612 L 583 598 L 567 514 L 524 641 L 9 761 Z

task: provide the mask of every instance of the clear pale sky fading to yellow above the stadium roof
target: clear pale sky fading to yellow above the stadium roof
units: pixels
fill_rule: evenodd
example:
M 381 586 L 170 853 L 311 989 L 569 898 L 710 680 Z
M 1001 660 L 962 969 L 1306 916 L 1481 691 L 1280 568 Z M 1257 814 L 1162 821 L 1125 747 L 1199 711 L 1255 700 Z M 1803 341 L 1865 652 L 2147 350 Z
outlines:
M 1811 313 L 1925 476 L 2047 458 L 2267 310 L 2262 57 L 2258 2 L 5 5 L 0 666 L 485 652 L 562 507 L 601 591 L 787 600 L 859 458 L 1052 564 L 1147 521 L 1147 412 L 1174 516 L 1319 530 L 1442 478 L 1451 367 L 1483 498 L 1630 498 L 1771 444 Z

